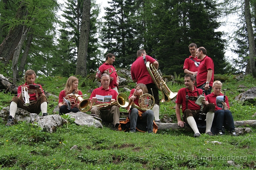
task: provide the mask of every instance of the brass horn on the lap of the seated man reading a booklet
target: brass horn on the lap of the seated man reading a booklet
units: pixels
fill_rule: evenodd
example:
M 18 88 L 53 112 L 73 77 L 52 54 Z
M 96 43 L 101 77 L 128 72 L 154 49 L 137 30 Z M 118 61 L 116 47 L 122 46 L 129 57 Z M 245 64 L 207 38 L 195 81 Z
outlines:
M 118 105 L 120 107 L 127 107 L 129 104 L 129 99 L 128 99 L 127 95 L 124 93 L 119 93 L 116 96 L 116 99 L 117 99 L 116 101 L 113 101 L 111 103 L 101 103 L 99 105 L 94 105 L 94 106 L 92 106 L 92 108 L 97 107 L 99 110 L 106 110 L 112 106 L 118 106 Z

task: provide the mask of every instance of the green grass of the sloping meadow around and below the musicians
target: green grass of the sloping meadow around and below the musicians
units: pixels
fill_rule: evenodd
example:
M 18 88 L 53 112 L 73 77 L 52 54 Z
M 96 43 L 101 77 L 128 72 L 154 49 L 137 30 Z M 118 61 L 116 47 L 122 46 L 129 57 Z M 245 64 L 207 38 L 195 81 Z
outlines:
M 38 77 L 36 83 L 43 84 L 45 91 L 58 96 L 64 89 L 67 78 Z M 240 84 L 254 87 L 256 81 L 245 77 L 237 82 L 232 77 L 223 83 L 223 89 L 230 99 L 235 121 L 253 120 L 255 104 L 243 105 L 234 100 L 239 94 Z M 80 87 L 82 86 L 83 87 Z M 79 89 L 83 94 L 96 84 L 80 79 Z M 56 88 L 58 87 L 58 88 Z M 168 82 L 173 92 L 184 87 Z M 122 91 L 122 89 L 119 89 Z M 0 107 L 9 105 L 12 94 L 0 92 Z M 127 93 L 127 92 L 126 92 Z M 129 93 L 127 93 L 129 95 Z M 160 97 L 161 99 L 161 97 Z M 58 104 L 58 99 L 48 98 L 48 113 Z M 160 118 L 168 115 L 176 121 L 175 103 L 161 103 Z M 67 118 L 68 119 L 68 118 Z M 240 136 L 208 136 L 193 138 L 186 130 L 158 130 L 156 134 L 142 132 L 125 133 L 108 127 L 92 128 L 77 126 L 73 121 L 58 128 L 55 133 L 42 131 L 37 125 L 20 122 L 5 127 L 0 120 L 0 165 L 2 169 L 43 169 L 43 170 L 168 170 L 168 169 L 255 169 L 256 168 L 256 128 L 253 132 Z M 212 143 L 222 142 L 222 144 Z M 78 150 L 70 150 L 77 145 Z M 227 163 L 233 160 L 241 167 Z

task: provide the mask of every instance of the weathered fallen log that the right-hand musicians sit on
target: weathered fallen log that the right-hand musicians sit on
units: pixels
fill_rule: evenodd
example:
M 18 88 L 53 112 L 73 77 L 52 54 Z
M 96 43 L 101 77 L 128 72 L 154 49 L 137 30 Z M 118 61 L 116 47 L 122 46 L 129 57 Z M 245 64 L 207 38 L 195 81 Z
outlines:
M 156 122 L 156 125 L 158 126 L 158 130 L 189 130 L 192 131 L 192 129 L 188 126 L 179 127 L 178 123 L 158 123 Z M 234 125 L 236 127 L 238 126 L 249 126 L 249 127 L 256 127 L 256 120 L 249 120 L 249 121 L 234 121 Z

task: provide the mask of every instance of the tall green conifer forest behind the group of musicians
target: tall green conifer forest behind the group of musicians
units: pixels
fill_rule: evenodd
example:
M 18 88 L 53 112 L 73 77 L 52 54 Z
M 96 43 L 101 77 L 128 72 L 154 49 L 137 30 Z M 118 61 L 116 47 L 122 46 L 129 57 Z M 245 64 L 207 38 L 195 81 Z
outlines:
M 64 4 L 62 4 L 64 2 Z M 95 0 L 0 0 L 0 72 L 14 81 L 39 75 L 81 75 L 98 69 L 106 53 L 130 69 L 136 51 L 156 58 L 164 75 L 184 75 L 192 42 L 207 49 L 215 74 L 255 71 L 255 0 L 111 0 L 98 18 Z M 59 14 L 62 16 L 58 16 Z M 220 18 L 239 17 L 237 30 L 218 31 Z M 62 18 L 62 19 L 61 19 Z M 225 56 L 229 43 L 238 55 Z

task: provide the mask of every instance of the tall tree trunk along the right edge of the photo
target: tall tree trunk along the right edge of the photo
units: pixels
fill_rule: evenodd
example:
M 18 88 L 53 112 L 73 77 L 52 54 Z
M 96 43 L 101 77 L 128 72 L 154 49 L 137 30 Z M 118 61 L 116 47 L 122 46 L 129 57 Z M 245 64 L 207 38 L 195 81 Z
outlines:
M 255 50 L 254 33 L 252 29 L 251 13 L 250 13 L 250 0 L 244 0 L 244 13 L 245 13 L 246 28 L 248 33 L 250 67 L 252 71 L 252 77 L 255 78 L 256 77 L 256 68 L 255 68 L 256 50 Z

